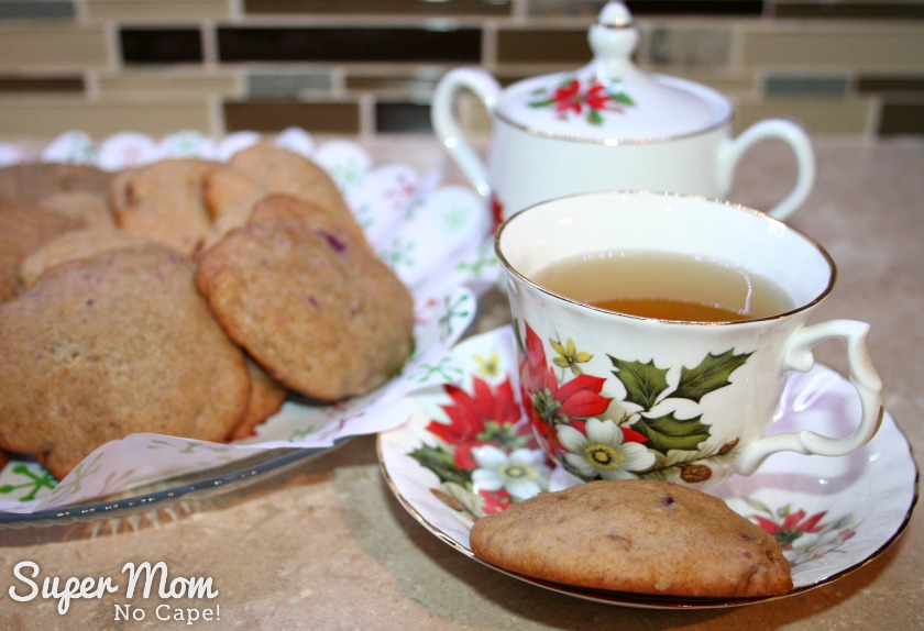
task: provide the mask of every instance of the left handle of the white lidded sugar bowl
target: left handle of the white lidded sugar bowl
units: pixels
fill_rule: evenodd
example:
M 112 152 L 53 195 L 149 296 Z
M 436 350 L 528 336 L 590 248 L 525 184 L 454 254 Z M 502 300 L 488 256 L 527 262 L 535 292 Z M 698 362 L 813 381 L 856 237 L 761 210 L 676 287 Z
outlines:
M 430 122 L 437 137 L 462 174 L 469 178 L 475 190 L 487 199 L 491 196 L 487 167 L 465 137 L 455 118 L 457 96 L 463 89 L 474 93 L 484 103 L 488 114 L 494 112 L 497 97 L 501 95 L 501 84 L 481 68 L 455 68 L 443 75 L 437 84 L 430 108 Z

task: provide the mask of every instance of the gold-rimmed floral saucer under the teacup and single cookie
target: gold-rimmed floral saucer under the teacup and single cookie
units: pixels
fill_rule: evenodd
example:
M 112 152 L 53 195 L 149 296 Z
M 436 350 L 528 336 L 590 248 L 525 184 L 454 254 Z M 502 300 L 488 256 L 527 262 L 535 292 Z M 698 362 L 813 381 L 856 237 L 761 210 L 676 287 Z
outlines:
M 380 465 L 395 497 L 415 519 L 484 563 L 469 544 L 475 519 L 576 479 L 548 466 L 521 417 L 509 326 L 462 342 L 444 368 L 458 375 L 454 384 L 414 392 L 408 422 L 378 435 Z M 831 368 L 795 373 L 773 431 L 811 424 L 836 433 L 843 419 L 859 413 L 855 398 L 847 379 Z M 873 440 L 854 454 L 828 458 L 779 453 L 751 476 L 733 476 L 710 492 L 777 538 L 792 565 L 791 596 L 840 578 L 898 539 L 917 501 L 917 467 L 887 412 Z M 770 599 L 594 591 L 490 566 L 561 594 L 627 607 L 719 608 Z

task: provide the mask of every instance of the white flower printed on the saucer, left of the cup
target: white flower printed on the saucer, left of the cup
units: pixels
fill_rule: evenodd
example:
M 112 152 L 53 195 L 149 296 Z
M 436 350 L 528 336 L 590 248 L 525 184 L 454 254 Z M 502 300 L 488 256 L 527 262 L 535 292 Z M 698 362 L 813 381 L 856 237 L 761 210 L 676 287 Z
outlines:
M 507 455 L 494 445 L 472 451 L 479 468 L 472 473 L 475 490 L 502 488 L 517 499 L 527 499 L 549 488 L 550 468 L 540 450 L 519 449 Z

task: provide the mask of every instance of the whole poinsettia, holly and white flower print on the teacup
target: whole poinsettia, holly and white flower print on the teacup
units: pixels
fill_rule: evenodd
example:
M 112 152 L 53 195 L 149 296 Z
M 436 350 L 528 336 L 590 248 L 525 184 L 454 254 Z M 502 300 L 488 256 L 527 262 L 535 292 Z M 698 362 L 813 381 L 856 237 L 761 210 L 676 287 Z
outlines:
M 560 456 L 562 466 L 585 479 L 645 477 L 701 483 L 713 475 L 711 462 L 723 462 L 738 444 L 706 447 L 711 427 L 703 414 L 680 418 L 670 400 L 698 405 L 703 397 L 729 385 L 729 376 L 750 353 L 728 350 L 707 354 L 696 366 L 681 366 L 675 384 L 670 367 L 653 361 L 607 355 L 610 374 L 623 385 L 622 400 L 603 395 L 607 377 L 581 365 L 593 355 L 571 337 L 549 340 L 556 353 L 525 322 L 518 340 L 520 396 L 526 414 L 543 449 Z M 667 411 L 664 411 L 667 410 Z

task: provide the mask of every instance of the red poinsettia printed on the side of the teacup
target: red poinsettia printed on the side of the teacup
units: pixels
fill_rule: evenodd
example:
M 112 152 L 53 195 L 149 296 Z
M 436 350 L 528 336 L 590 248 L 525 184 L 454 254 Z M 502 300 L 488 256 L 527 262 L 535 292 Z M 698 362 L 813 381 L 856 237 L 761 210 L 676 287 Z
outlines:
M 520 354 L 519 376 L 529 422 L 549 445 L 558 442 L 554 432 L 557 423 L 568 423 L 583 432 L 584 420 L 603 413 L 613 400 L 600 395 L 606 379 L 584 374 L 559 385 L 554 368 L 546 363 L 542 341 L 529 324 L 526 325 L 525 347 L 525 355 Z M 645 440 L 645 436 L 641 439 Z

